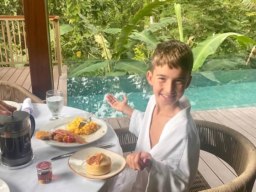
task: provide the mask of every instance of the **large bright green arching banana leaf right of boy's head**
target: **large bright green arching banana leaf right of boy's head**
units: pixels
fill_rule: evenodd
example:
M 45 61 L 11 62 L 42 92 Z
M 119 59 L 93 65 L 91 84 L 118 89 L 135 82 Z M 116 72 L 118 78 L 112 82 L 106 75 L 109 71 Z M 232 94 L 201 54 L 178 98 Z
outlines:
M 256 44 L 253 39 L 247 36 L 243 36 L 239 33 L 230 32 L 215 34 L 212 37 L 208 37 L 206 41 L 198 43 L 197 47 L 192 50 L 194 55 L 193 71 L 196 71 L 198 68 L 200 68 L 203 65 L 204 60 L 207 58 L 207 56 L 215 53 L 220 44 L 222 44 L 222 42 L 229 36 L 234 37 L 243 43 Z

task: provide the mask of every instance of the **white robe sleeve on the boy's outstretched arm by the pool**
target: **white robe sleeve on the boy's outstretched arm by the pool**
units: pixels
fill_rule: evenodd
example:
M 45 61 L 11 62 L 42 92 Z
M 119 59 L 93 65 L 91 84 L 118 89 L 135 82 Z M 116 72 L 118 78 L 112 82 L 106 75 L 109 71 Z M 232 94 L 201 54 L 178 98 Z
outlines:
M 145 112 L 134 110 L 130 119 L 129 131 L 139 137 L 140 129 L 142 128 L 142 122 Z

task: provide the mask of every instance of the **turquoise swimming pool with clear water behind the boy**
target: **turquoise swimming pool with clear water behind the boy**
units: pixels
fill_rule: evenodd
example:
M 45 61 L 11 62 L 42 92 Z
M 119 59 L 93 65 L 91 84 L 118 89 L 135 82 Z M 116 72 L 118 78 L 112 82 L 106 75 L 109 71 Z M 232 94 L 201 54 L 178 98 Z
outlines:
M 256 106 L 256 70 L 193 72 L 185 96 L 192 111 Z M 145 75 L 68 78 L 67 105 L 93 112 L 101 118 L 126 116 L 113 110 L 106 94 L 122 100 L 125 93 L 131 107 L 145 111 L 153 94 Z

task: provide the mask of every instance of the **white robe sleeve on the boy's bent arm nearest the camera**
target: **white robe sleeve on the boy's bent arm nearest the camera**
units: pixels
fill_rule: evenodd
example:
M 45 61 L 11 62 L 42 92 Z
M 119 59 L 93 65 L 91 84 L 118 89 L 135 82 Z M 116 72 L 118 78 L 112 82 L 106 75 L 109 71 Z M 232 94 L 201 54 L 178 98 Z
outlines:
M 185 192 L 192 185 L 198 166 L 199 145 L 193 134 L 180 136 L 184 130 L 180 131 L 167 135 L 163 141 L 165 145 L 158 147 L 163 158 L 152 161 L 147 192 Z

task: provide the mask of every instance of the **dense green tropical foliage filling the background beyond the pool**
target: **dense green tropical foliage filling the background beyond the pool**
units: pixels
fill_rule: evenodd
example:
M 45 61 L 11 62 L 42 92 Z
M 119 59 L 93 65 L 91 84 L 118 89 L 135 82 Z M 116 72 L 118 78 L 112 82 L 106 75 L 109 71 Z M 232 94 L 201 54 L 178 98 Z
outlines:
M 148 62 L 142 61 L 151 57 L 156 44 L 180 39 L 181 29 L 184 42 L 190 39 L 196 60 L 194 70 L 214 70 L 222 65 L 222 70 L 248 67 L 244 63 L 251 52 L 250 43 L 254 44 L 251 40 L 256 39 L 255 0 L 175 0 L 181 6 L 181 9 L 176 9 L 180 10 L 178 13 L 175 13 L 175 4 L 167 2 L 172 1 L 48 0 L 48 11 L 49 15 L 60 16 L 64 31 L 68 26 L 73 28 L 66 28 L 61 36 L 64 60 L 88 60 L 82 62 L 83 68 L 78 68 L 80 71 L 73 73 L 75 76 L 142 73 L 144 67 L 148 67 Z M 0 14 L 23 15 L 22 1 L 2 0 Z M 151 15 L 154 23 L 149 23 Z M 178 27 L 178 23 L 179 26 L 182 23 L 182 27 Z M 239 35 L 225 37 L 230 32 Z M 211 41 L 209 39 L 215 38 L 217 40 L 206 46 Z M 224 60 L 226 64 L 223 60 L 211 62 L 208 56 L 219 59 L 230 53 L 241 54 L 244 63 L 236 65 L 236 60 L 228 57 L 224 58 L 230 61 Z M 142 62 L 138 63 L 142 70 L 134 70 L 134 64 L 128 61 L 118 63 L 120 59 L 130 58 Z M 91 62 L 92 59 L 106 59 L 107 62 Z M 218 65 L 214 66 L 216 62 Z M 127 64 L 131 65 L 130 68 Z M 74 70 L 74 64 L 71 66 Z M 254 68 L 255 65 L 249 67 Z

